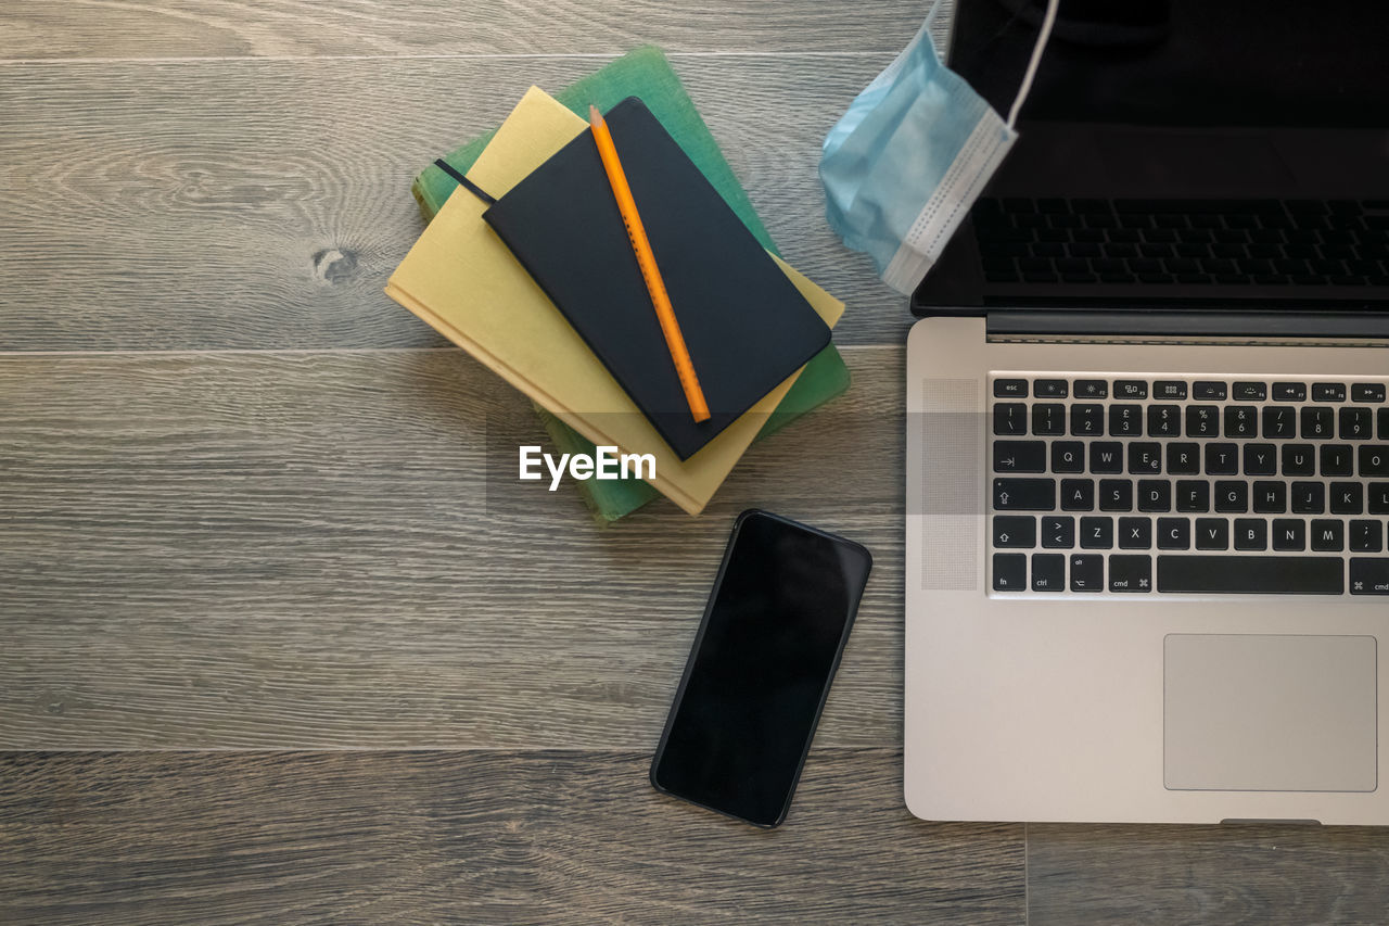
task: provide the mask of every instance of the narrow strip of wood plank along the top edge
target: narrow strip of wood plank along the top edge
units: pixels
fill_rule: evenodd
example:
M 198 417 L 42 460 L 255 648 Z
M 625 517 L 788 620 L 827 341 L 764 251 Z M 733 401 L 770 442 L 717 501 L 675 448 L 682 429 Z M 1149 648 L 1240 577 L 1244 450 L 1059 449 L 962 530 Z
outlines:
M 0 60 L 896 51 L 921 24 L 913 0 L 8 0 Z

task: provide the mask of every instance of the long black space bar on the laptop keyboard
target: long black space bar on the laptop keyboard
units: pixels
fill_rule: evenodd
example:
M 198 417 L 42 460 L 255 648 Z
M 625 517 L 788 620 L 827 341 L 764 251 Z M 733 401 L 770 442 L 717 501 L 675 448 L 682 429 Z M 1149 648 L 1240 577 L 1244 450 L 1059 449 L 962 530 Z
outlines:
M 1339 595 L 1339 556 L 1158 556 L 1157 591 L 1215 595 Z

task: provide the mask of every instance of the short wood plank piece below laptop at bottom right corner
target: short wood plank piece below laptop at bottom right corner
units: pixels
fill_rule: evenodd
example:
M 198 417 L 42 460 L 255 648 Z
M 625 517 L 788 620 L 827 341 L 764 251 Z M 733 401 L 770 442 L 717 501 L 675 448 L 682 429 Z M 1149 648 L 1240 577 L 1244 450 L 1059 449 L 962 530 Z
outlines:
M 1389 829 L 1029 825 L 1028 922 L 1381 923 Z

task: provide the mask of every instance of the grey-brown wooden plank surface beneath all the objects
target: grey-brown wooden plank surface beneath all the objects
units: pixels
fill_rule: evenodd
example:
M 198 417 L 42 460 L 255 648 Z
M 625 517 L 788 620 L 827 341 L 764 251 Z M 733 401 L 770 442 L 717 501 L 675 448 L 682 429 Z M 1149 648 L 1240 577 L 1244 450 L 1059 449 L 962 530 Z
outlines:
M 7 0 L 0 922 L 1383 922 L 1389 831 L 903 808 L 910 317 L 815 163 L 922 13 Z M 642 42 L 849 303 L 856 380 L 704 516 L 604 531 L 508 478 L 526 403 L 381 286 L 421 164 Z M 646 783 L 749 505 L 878 563 L 767 833 Z

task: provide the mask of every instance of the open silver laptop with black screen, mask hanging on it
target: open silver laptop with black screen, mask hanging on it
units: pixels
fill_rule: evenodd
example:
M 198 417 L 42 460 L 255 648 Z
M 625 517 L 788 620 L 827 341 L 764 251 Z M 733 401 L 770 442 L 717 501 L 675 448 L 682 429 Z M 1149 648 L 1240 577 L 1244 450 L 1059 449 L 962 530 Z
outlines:
M 1043 7 L 956 4 L 995 108 Z M 911 303 L 917 816 L 1389 823 L 1385 35 L 1063 0 Z

